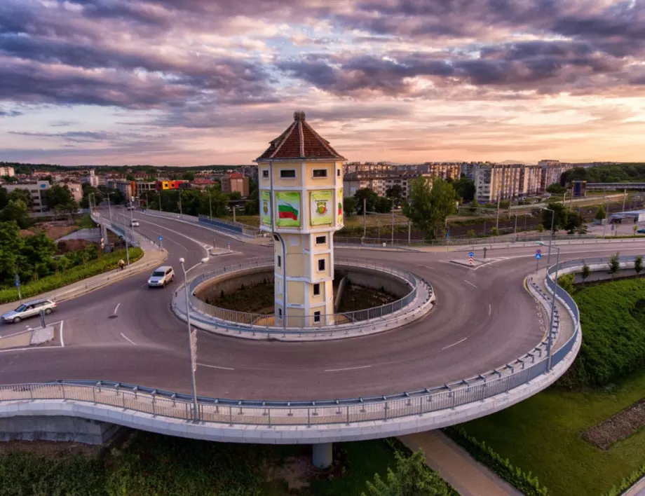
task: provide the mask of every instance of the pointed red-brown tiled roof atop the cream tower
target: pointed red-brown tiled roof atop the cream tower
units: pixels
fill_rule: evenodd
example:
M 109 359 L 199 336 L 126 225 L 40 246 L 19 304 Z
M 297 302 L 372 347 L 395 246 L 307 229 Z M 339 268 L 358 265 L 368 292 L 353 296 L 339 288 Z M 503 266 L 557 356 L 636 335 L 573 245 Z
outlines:
M 306 123 L 304 112 L 294 112 L 293 123 L 276 139 L 256 161 L 288 160 L 298 158 L 329 158 L 346 160 Z

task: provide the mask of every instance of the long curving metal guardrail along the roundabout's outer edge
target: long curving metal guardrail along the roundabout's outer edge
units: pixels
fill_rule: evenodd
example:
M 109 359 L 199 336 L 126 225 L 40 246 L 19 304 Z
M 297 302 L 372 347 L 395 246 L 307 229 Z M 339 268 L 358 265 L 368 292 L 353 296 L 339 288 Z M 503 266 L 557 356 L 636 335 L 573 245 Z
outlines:
M 634 257 L 623 257 L 630 261 Z M 587 263 L 609 259 L 588 259 Z M 582 261 L 567 261 L 559 268 L 580 266 Z M 574 317 L 573 334 L 552 355 L 557 364 L 573 349 L 580 333 L 580 313 L 573 298 L 550 277 L 548 286 L 569 306 Z M 545 294 L 543 298 L 547 298 Z M 545 341 L 522 357 L 487 373 L 438 387 L 398 394 L 331 399 L 322 401 L 257 401 L 198 397 L 197 418 L 201 422 L 228 425 L 315 426 L 388 420 L 409 415 L 456 408 L 482 401 L 528 383 L 547 371 Z M 188 394 L 155 390 L 150 387 L 93 380 L 62 380 L 54 383 L 27 383 L 0 386 L 0 401 L 72 399 L 87 403 L 116 406 L 170 418 L 194 417 L 192 397 Z

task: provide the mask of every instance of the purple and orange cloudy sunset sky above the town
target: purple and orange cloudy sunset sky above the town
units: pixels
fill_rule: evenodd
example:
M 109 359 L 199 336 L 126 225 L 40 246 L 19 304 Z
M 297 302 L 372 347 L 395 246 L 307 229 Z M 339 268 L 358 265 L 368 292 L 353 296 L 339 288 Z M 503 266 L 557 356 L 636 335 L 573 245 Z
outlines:
M 0 0 L 0 160 L 645 161 L 645 0 Z

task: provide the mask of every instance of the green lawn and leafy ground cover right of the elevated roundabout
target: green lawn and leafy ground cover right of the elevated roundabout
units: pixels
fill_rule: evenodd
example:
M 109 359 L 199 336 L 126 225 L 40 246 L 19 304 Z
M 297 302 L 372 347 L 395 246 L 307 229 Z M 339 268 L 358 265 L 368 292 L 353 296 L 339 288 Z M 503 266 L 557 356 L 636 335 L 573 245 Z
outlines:
M 642 366 L 637 350 L 645 341 L 645 326 L 636 303 L 643 296 L 641 280 L 606 282 L 576 291 L 586 347 L 578 360 L 585 360 L 588 371 L 597 371 L 585 376 L 606 381 L 613 377 L 611 371 Z M 643 397 L 645 370 L 595 390 L 550 388 L 463 427 L 515 466 L 532 471 L 553 495 L 602 495 L 645 463 L 645 429 L 606 451 L 580 435 Z

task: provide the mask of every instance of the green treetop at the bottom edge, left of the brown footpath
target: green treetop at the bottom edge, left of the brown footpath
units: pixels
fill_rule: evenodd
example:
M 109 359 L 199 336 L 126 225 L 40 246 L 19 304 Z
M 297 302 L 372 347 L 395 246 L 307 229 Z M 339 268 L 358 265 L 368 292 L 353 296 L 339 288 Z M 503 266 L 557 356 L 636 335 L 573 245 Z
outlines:
M 395 470 L 388 468 L 383 481 L 379 474 L 374 481 L 367 481 L 367 492 L 362 496 L 447 496 L 449 494 L 443 479 L 426 467 L 426 457 L 419 450 L 410 457 L 395 452 Z

